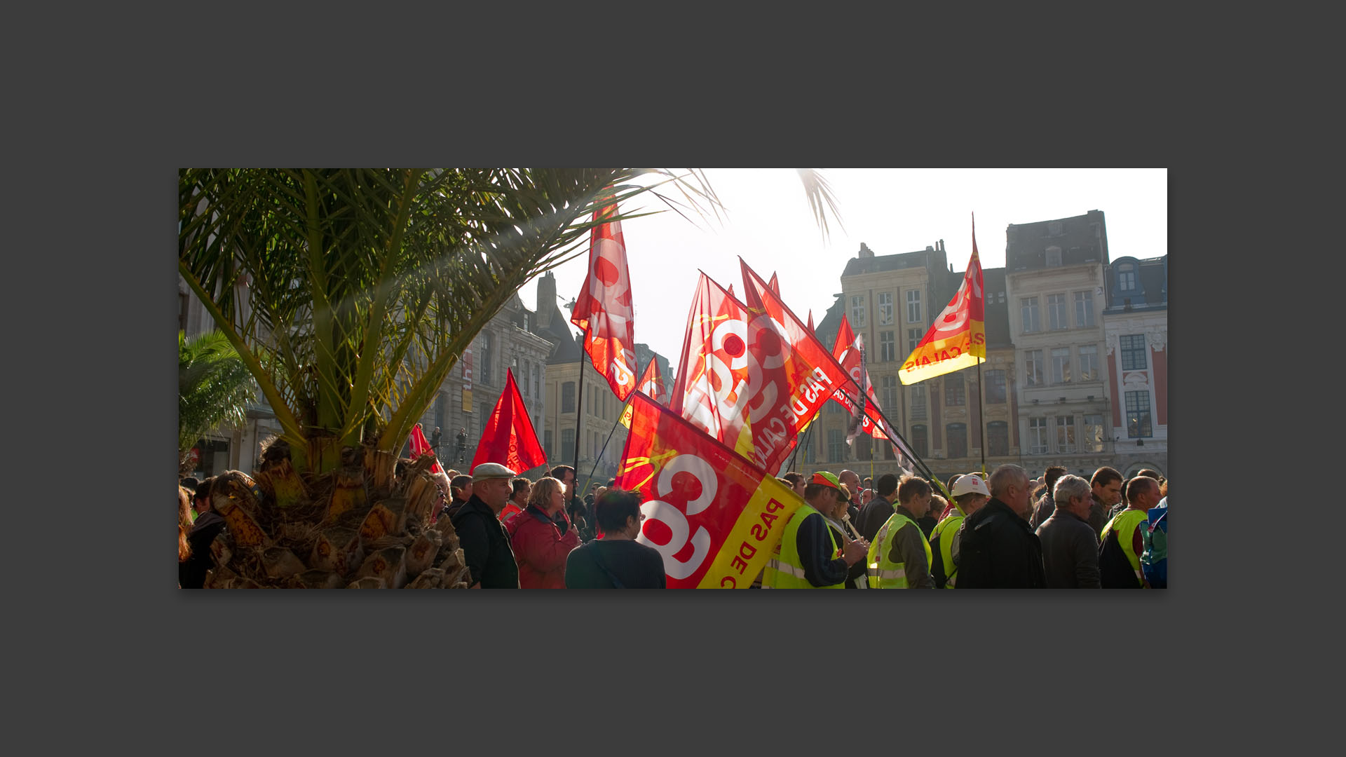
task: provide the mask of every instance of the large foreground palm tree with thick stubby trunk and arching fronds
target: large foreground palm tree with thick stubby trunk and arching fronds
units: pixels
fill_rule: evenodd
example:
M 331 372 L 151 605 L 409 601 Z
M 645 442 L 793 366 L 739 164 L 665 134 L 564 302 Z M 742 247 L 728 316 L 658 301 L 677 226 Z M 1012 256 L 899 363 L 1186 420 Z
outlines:
M 801 175 L 826 233 L 830 194 Z M 459 583 L 429 458 L 394 477 L 396 453 L 509 298 L 646 191 L 719 213 L 695 170 L 180 171 L 178 271 L 281 427 L 256 481 L 213 490 L 230 525 L 214 585 Z

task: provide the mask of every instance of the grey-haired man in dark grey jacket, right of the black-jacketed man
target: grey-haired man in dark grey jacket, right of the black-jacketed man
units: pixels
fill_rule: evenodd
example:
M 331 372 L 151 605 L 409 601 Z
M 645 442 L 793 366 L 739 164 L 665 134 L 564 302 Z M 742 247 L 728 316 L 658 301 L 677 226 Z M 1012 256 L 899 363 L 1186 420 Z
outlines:
M 1098 537 L 1089 525 L 1093 505 L 1089 482 L 1078 475 L 1062 475 L 1053 497 L 1055 508 L 1036 531 L 1047 589 L 1101 589 Z

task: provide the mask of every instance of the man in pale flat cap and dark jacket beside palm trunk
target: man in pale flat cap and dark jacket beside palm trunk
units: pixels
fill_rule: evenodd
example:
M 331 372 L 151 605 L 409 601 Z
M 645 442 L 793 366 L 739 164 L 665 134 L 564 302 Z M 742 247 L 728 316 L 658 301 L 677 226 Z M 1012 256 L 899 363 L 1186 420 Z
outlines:
M 472 469 L 472 496 L 454 517 L 459 546 L 471 589 L 518 589 L 518 564 L 509 546 L 509 533 L 499 521 L 517 475 L 498 462 L 483 462 Z

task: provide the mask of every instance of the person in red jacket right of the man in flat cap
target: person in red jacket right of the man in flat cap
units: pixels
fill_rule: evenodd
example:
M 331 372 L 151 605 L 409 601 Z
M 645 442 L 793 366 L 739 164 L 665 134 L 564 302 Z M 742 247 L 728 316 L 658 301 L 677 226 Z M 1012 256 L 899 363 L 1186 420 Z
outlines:
M 580 546 L 565 516 L 565 485 L 552 477 L 538 478 L 528 508 L 505 528 L 518 563 L 520 589 L 565 589 L 565 558 Z

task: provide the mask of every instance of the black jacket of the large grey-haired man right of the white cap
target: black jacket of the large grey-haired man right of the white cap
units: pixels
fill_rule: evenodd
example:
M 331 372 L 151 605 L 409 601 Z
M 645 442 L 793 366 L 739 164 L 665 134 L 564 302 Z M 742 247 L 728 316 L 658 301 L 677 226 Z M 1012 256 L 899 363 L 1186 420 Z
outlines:
M 958 589 L 1044 589 L 1042 541 L 1010 505 L 991 498 L 958 528 Z

